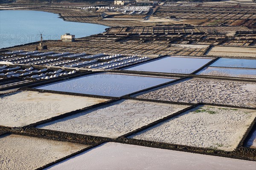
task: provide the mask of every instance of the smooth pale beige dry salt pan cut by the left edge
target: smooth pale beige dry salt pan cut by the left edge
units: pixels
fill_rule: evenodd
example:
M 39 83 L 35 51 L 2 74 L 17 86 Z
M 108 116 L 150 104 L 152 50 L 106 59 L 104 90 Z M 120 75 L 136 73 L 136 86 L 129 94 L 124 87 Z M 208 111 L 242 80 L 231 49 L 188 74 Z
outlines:
M 22 127 L 104 101 L 107 99 L 33 91 L 13 92 L 0 96 L 0 125 Z

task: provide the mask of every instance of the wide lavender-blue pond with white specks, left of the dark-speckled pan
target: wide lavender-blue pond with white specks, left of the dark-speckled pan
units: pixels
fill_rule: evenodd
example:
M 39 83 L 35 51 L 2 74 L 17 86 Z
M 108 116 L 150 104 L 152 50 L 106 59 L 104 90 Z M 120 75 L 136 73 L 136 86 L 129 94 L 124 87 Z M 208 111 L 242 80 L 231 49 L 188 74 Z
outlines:
M 175 79 L 99 73 L 41 86 L 37 89 L 120 97 L 173 80 Z

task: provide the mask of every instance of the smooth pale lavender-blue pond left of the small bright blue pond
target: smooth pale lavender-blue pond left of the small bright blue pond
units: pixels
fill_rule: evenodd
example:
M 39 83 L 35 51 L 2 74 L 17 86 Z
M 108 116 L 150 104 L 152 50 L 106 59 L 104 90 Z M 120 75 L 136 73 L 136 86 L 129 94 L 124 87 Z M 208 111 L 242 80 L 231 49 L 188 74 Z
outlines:
M 209 58 L 165 57 L 125 70 L 190 74 L 211 60 Z

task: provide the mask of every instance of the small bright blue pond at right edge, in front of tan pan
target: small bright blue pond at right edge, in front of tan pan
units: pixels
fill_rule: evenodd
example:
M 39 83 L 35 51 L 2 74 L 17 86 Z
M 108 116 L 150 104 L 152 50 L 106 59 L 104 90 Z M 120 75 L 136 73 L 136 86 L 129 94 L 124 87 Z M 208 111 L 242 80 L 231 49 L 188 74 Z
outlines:
M 220 58 L 214 63 L 212 63 L 210 66 L 256 69 L 256 60 Z

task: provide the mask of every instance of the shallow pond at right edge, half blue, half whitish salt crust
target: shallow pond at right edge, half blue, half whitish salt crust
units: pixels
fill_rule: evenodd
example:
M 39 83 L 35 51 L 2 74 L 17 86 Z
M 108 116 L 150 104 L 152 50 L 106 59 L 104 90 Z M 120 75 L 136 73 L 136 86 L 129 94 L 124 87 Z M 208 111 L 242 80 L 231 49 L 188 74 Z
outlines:
M 197 75 L 216 75 L 216 76 L 224 76 L 224 77 L 256 78 L 256 69 L 206 67 L 196 74 Z

